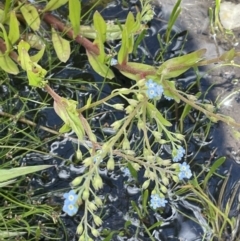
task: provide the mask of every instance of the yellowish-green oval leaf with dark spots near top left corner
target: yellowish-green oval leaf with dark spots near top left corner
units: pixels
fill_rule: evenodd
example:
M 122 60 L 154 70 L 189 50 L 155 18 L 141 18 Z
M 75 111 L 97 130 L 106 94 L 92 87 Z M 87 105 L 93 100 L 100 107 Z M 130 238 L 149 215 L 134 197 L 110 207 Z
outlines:
M 41 24 L 37 9 L 31 4 L 22 5 L 20 2 L 18 4 L 20 6 L 20 11 L 24 19 L 26 20 L 28 26 L 33 31 L 37 31 Z

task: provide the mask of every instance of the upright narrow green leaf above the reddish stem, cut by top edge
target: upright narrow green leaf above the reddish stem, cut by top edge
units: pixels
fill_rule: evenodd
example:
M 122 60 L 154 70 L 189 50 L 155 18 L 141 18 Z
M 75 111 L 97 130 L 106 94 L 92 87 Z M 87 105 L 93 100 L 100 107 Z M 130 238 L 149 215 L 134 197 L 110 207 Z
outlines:
M 72 24 L 74 37 L 80 33 L 81 1 L 69 0 L 69 19 Z

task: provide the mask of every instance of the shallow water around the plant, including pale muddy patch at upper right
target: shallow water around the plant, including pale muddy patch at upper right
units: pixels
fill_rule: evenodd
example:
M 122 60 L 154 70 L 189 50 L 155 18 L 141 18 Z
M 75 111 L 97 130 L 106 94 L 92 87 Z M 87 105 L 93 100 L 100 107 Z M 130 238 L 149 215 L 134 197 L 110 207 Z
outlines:
M 104 17 L 112 19 L 119 17 L 125 19 L 128 11 L 131 9 L 135 11 L 135 2 L 130 1 L 130 4 L 120 7 L 119 1 L 112 1 L 101 13 Z M 165 1 L 163 1 L 165 2 Z M 156 60 L 155 57 L 159 53 L 159 43 L 157 40 L 157 33 L 163 33 L 166 29 L 166 21 L 169 16 L 169 12 L 173 7 L 174 1 L 167 1 L 167 3 L 162 3 L 161 6 L 156 6 L 155 8 L 155 19 L 150 24 L 150 29 L 148 30 L 146 40 L 144 44 L 139 46 L 137 51 L 137 56 L 130 56 L 133 60 L 141 60 L 142 56 L 145 56 L 145 63 L 157 65 L 160 61 Z M 207 8 L 210 6 L 212 1 L 184 1 L 183 0 L 183 12 L 181 18 L 179 19 L 177 25 L 174 28 L 175 37 L 170 48 L 165 52 L 163 59 L 172 58 L 178 56 L 181 51 L 182 44 L 185 48 L 183 51 L 190 52 L 198 48 L 207 48 L 207 57 L 213 57 L 217 55 L 218 49 L 224 49 L 224 46 L 217 44 L 209 36 L 208 33 L 208 20 L 207 20 Z M 189 30 L 190 34 L 186 34 L 184 30 Z M 186 41 L 187 40 L 187 41 Z M 116 44 L 116 49 L 119 48 L 119 43 Z M 221 50 L 222 51 L 222 50 Z M 111 85 L 109 83 L 103 83 L 102 78 L 97 75 L 89 66 L 86 56 L 80 49 L 79 53 L 75 53 L 72 56 L 70 65 L 66 66 L 64 69 L 56 69 L 52 73 L 52 78 L 54 79 L 52 87 L 60 95 L 65 97 L 78 99 L 79 107 L 86 103 L 87 98 L 92 94 L 93 100 L 101 99 L 107 96 L 114 88 L 118 86 Z M 231 93 L 233 89 L 237 86 L 232 84 L 232 79 L 236 78 L 238 69 L 233 69 L 231 67 L 223 69 L 217 69 L 214 72 L 205 74 L 206 69 L 201 69 L 201 74 L 203 79 L 201 82 L 201 88 L 206 91 L 207 88 L 213 83 L 213 81 L 218 81 L 217 88 L 213 88 L 209 94 L 208 98 L 214 100 L 219 92 L 224 92 L 224 94 Z M 223 75 L 223 73 L 229 72 L 230 74 Z M 231 75 L 231 73 L 233 73 Z M 189 85 L 195 80 L 196 74 L 192 70 L 187 71 L 185 74 L 181 75 L 178 79 L 178 87 L 182 90 L 186 90 Z M 11 80 L 13 86 L 17 86 L 21 90 L 22 96 L 31 96 L 31 90 L 27 88 L 22 88 L 19 86 L 19 79 Z M 74 82 L 75 81 L 75 82 Z M 68 84 L 66 85 L 66 82 Z M 97 88 L 94 88 L 90 83 L 96 83 L 98 88 L 102 89 L 99 93 Z M 116 72 L 116 82 L 122 87 L 129 87 L 131 85 L 130 81 L 121 76 Z M 228 87 L 228 89 L 226 88 Z M 197 88 L 192 90 L 197 91 Z M 2 86 L 0 91 L 1 99 L 6 99 L 6 96 L 12 95 L 11 91 L 5 86 Z M 39 95 L 34 95 L 35 100 L 42 101 L 46 93 L 40 91 Z M 237 97 L 237 95 L 236 95 Z M 233 110 L 238 106 L 238 99 L 233 99 L 231 103 L 233 107 L 228 107 L 227 109 L 222 108 L 223 113 L 234 114 Z M 121 98 L 115 98 L 112 100 L 113 103 L 125 103 Z M 49 101 L 51 104 L 51 101 Z M 22 103 L 17 99 L 14 103 L 7 103 L 3 108 L 7 108 L 8 104 L 11 108 L 19 109 Z M 31 106 L 33 103 L 29 103 L 29 108 L 36 108 L 36 106 Z M 172 103 L 168 101 L 161 102 L 159 108 L 162 110 L 170 108 Z M 13 112 L 14 112 L 13 108 Z M 5 110 L 6 111 L 6 110 Z M 91 126 L 99 141 L 103 141 L 104 138 L 109 137 L 114 134 L 113 130 L 109 127 L 110 124 L 116 119 L 123 117 L 124 113 L 121 111 L 114 111 L 106 105 L 94 110 L 95 116 L 91 119 Z M 88 113 L 89 114 L 89 113 Z M 170 117 L 173 117 L 175 113 L 168 113 Z M 226 184 L 225 193 L 223 195 L 223 200 L 221 204 L 226 206 L 228 198 L 232 195 L 234 187 L 237 189 L 236 198 L 233 201 L 233 206 L 231 209 L 231 216 L 239 216 L 238 208 L 238 196 L 239 196 L 239 162 L 240 154 L 238 153 L 237 142 L 234 142 L 230 136 L 229 127 L 223 124 L 216 124 L 210 129 L 210 134 L 207 139 L 204 139 L 204 125 L 206 125 L 207 120 L 204 116 L 198 115 L 196 111 L 192 111 L 191 115 L 199 120 L 195 124 L 191 119 L 186 118 L 185 120 L 185 131 L 194 128 L 194 135 L 192 138 L 188 138 L 188 153 L 187 160 L 192 161 L 192 166 L 196 172 L 201 170 L 201 165 L 208 162 L 214 163 L 214 161 L 222 155 L 228 154 L 227 161 L 222 168 L 219 169 L 220 174 L 226 174 L 230 166 L 232 167 L 229 181 Z M 238 115 L 238 112 L 235 113 Z M 49 128 L 58 129 L 61 126 L 61 120 L 57 117 L 51 107 L 46 107 L 42 111 L 35 113 L 34 111 L 28 113 L 30 119 L 34 119 L 38 126 L 44 125 Z M 239 118 L 240 119 L 240 118 Z M 104 128 L 102 128 L 104 126 Z M 173 125 L 174 126 L 174 125 Z M 78 175 L 81 175 L 85 167 L 78 163 L 75 156 L 75 150 L 77 149 L 77 140 L 72 133 L 65 135 L 65 137 L 58 137 L 51 140 L 51 135 L 49 133 L 39 129 L 37 134 L 44 141 L 45 154 L 39 152 L 30 152 L 22 158 L 20 162 L 22 165 L 39 165 L 39 164 L 52 164 L 55 165 L 53 168 L 44 170 L 38 176 L 33 176 L 30 182 L 30 186 L 36 190 L 34 199 L 40 199 L 43 203 L 54 203 L 58 205 L 61 209 L 63 204 L 62 194 L 69 189 L 69 183 Z M 74 139 L 72 139 L 74 138 Z M 141 152 L 142 134 L 138 133 L 136 126 L 133 125 L 131 133 L 129 135 L 130 143 L 132 146 L 138 146 Z M 23 144 L 24 145 L 24 144 Z M 198 152 L 201 147 L 200 152 Z M 156 151 L 159 155 L 163 157 L 169 157 L 169 147 L 167 145 L 159 147 L 156 146 Z M 214 151 L 217 148 L 216 151 Z M 36 148 L 36 150 L 38 150 Z M 82 145 L 81 150 L 86 154 L 86 148 Z M 231 156 L 230 156 L 231 155 Z M 121 160 L 115 160 L 116 164 L 120 164 Z M 206 171 L 207 172 L 207 171 Z M 143 224 L 146 227 L 150 227 L 156 221 L 162 221 L 162 224 L 152 230 L 151 234 L 155 240 L 203 240 L 202 236 L 205 233 L 205 239 L 209 240 L 211 235 L 211 229 L 208 230 L 208 225 L 206 219 L 202 213 L 202 209 L 194 203 L 190 203 L 184 197 L 175 196 L 171 191 L 168 193 L 168 201 L 166 209 L 163 212 L 156 213 L 149 210 L 149 215 L 145 217 L 144 220 L 140 220 L 135 210 L 133 209 L 132 203 L 135 202 L 137 206 L 142 205 L 140 185 L 143 181 L 143 173 L 140 171 L 138 173 L 138 180 L 132 178 L 125 173 L 121 165 L 115 168 L 114 171 L 109 172 L 106 169 L 106 160 L 103 161 L 99 168 L 99 173 L 104 181 L 104 188 L 99 191 L 99 195 L 105 201 L 102 212 L 104 215 L 103 229 L 122 231 L 122 235 L 116 233 L 113 235 L 111 240 L 150 240 L 147 233 L 144 231 Z M 209 189 L 211 194 L 218 199 L 220 193 L 220 187 L 222 182 L 220 178 L 214 177 L 209 182 Z M 151 186 L 150 186 L 151 189 Z M 188 218 L 182 213 L 188 215 Z M 68 217 L 65 214 L 61 215 L 61 220 L 66 226 L 67 234 L 63 234 L 61 240 L 78 240 L 75 234 L 76 227 L 83 215 L 84 210 L 80 208 L 78 214 L 75 217 Z M 191 219 L 196 219 L 198 224 Z M 131 225 L 123 228 L 126 221 L 130 221 Z M 228 233 L 226 233 L 227 236 Z M 51 234 L 52 237 L 55 234 Z M 65 236 L 64 236 L 65 235 Z M 95 240 L 103 240 L 104 237 L 96 238 Z M 47 240 L 47 239 L 42 239 Z M 227 239 L 226 239 L 227 240 Z

